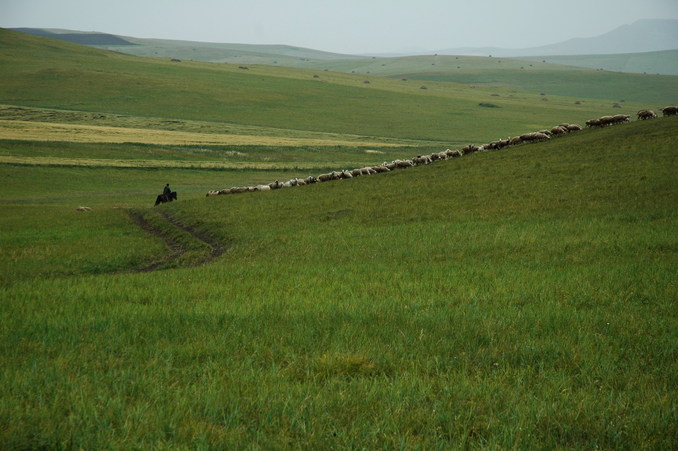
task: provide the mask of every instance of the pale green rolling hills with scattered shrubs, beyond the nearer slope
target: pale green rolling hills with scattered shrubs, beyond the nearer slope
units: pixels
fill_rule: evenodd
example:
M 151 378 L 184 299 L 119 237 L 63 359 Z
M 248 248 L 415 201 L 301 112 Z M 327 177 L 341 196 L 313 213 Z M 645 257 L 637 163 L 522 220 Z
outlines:
M 32 32 L 44 34 L 44 31 L 38 29 Z M 73 33 L 65 36 L 71 35 L 79 36 Z M 104 39 L 103 36 L 108 35 L 93 36 Z M 454 81 L 547 92 L 549 95 L 652 102 L 657 106 L 667 102 L 676 103 L 675 98 L 678 97 L 678 87 L 672 77 L 678 75 L 678 50 L 522 58 L 449 55 L 369 58 L 280 45 L 218 44 L 130 37 L 120 39 L 124 40 L 123 45 L 95 47 L 137 56 L 236 65 L 279 65 L 417 80 Z M 606 73 L 594 73 L 600 71 Z M 657 77 L 659 74 L 670 77 Z M 633 89 L 634 87 L 639 90 Z

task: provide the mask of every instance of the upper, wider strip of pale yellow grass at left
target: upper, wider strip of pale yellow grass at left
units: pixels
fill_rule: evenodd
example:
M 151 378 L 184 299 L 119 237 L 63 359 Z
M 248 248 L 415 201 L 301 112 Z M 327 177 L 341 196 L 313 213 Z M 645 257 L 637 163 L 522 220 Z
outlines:
M 240 134 L 195 133 L 100 125 L 55 124 L 0 120 L 0 139 L 24 141 L 65 141 L 79 143 L 139 143 L 157 145 L 224 145 L 224 146 L 374 146 L 389 147 L 396 143 L 363 140 L 294 138 Z

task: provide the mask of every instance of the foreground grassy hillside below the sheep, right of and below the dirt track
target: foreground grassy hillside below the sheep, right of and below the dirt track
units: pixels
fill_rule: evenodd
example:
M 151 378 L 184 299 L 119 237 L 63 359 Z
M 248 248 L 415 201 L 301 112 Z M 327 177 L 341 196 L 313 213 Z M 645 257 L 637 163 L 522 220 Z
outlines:
M 164 205 L 230 247 L 0 299 L 0 443 L 678 443 L 676 121 Z

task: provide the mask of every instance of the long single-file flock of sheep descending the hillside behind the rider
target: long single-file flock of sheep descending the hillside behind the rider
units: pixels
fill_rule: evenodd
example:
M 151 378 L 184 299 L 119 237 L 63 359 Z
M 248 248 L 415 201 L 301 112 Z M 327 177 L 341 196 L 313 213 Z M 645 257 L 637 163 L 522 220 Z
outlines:
M 674 116 L 678 114 L 678 106 L 667 106 L 661 109 L 664 116 Z M 657 115 L 652 110 L 640 110 L 638 112 L 638 119 L 652 119 L 657 117 Z M 622 124 L 628 122 L 631 119 L 631 116 L 627 114 L 618 114 L 616 116 L 603 116 L 598 119 L 591 119 L 586 121 L 588 127 L 606 127 L 609 125 Z M 275 182 L 269 183 L 267 185 L 256 185 L 256 186 L 234 186 L 232 188 L 226 188 L 222 190 L 212 190 L 208 191 L 207 196 L 217 196 L 220 194 L 236 194 L 236 193 L 247 193 L 254 191 L 270 191 L 274 189 L 288 188 L 292 186 L 302 186 L 312 183 L 319 182 L 329 182 L 331 180 L 342 180 L 342 179 L 351 179 L 354 177 L 361 177 L 372 174 L 379 174 L 382 172 L 391 172 L 396 169 L 411 168 L 414 166 L 421 166 L 433 163 L 434 161 L 447 160 L 449 158 L 461 157 L 463 155 L 468 155 L 474 152 L 485 152 L 490 150 L 503 149 L 508 146 L 515 146 L 524 143 L 535 143 L 548 141 L 554 136 L 565 135 L 567 133 L 575 132 L 581 130 L 582 127 L 577 124 L 560 124 L 551 128 L 550 130 L 540 130 L 538 132 L 525 133 L 520 136 L 515 136 L 513 138 L 507 138 L 505 140 L 500 139 L 497 141 L 492 141 L 488 144 L 476 146 L 470 144 L 462 149 L 450 150 L 447 149 L 443 152 L 432 153 L 430 155 L 418 155 L 409 160 L 394 160 L 390 163 L 384 162 L 376 166 L 366 166 L 363 168 L 357 168 L 353 170 L 342 170 L 342 171 L 332 171 L 326 174 L 320 174 L 317 177 L 308 176 L 306 178 L 293 178 L 291 180 L 280 182 L 276 180 Z

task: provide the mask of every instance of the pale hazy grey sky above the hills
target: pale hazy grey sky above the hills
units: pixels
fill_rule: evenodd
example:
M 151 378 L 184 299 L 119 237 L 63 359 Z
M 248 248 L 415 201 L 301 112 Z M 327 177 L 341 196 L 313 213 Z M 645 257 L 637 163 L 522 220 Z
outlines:
M 5 28 L 339 53 L 534 47 L 638 19 L 678 19 L 678 0 L 0 0 Z

